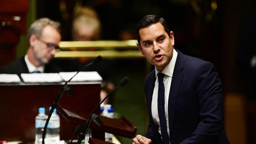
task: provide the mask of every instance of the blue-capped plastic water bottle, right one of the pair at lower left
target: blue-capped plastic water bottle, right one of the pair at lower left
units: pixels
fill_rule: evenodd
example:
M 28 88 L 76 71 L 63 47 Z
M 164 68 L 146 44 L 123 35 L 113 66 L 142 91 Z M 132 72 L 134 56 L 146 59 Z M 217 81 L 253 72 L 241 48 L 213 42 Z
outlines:
M 50 107 L 51 109 L 51 107 Z M 50 121 L 46 130 L 46 143 L 47 144 L 58 144 L 60 141 L 59 138 L 59 116 L 57 114 L 57 110 L 54 109 Z

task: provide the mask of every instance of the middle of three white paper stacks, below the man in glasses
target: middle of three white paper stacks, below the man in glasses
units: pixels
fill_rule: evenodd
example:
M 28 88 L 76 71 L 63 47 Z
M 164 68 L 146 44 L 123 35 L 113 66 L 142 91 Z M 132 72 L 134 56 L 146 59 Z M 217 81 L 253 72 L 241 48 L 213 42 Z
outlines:
M 63 81 L 58 73 L 31 73 L 20 74 L 20 76 L 25 83 L 54 83 Z

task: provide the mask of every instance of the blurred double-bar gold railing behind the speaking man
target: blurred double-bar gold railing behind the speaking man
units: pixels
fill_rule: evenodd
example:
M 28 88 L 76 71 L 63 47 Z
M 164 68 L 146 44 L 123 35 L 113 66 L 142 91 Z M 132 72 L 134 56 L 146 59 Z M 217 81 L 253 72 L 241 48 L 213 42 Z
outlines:
M 128 41 L 62 41 L 59 43 L 61 51 L 56 58 L 94 58 L 101 55 L 105 59 L 141 58 L 137 40 Z

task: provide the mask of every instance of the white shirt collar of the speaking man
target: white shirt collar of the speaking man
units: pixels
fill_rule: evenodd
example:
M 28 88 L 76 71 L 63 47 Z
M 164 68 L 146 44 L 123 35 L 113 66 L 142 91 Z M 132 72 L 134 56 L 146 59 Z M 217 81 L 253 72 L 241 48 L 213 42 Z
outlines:
M 175 49 L 173 49 L 173 57 L 170 63 L 168 63 L 168 65 L 165 66 L 165 68 L 163 69 L 162 71 L 163 74 L 173 77 L 173 71 L 174 71 L 174 66 L 176 63 L 177 56 L 178 56 L 178 52 Z M 159 71 L 156 69 L 156 66 L 155 66 L 155 72 L 156 72 L 156 79 L 157 79 L 157 74 Z

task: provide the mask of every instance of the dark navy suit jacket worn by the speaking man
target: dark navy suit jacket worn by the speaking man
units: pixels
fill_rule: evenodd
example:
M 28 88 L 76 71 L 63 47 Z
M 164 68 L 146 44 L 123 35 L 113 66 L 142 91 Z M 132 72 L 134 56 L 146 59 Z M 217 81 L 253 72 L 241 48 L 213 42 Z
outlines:
M 171 144 L 229 144 L 223 127 L 223 92 L 219 75 L 210 62 L 178 50 L 171 82 L 168 117 Z M 149 113 L 147 138 L 161 144 L 151 112 L 155 70 L 145 79 Z

